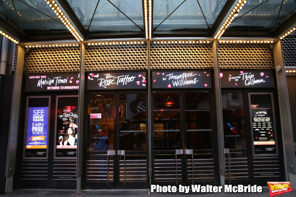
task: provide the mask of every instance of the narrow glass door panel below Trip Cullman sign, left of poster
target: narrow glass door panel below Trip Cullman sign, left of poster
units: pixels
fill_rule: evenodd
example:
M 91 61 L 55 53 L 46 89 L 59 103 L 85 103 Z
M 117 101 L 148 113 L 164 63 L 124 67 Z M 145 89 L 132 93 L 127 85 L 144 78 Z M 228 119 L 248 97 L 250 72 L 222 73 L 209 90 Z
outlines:
M 249 179 L 243 93 L 222 93 L 225 181 Z

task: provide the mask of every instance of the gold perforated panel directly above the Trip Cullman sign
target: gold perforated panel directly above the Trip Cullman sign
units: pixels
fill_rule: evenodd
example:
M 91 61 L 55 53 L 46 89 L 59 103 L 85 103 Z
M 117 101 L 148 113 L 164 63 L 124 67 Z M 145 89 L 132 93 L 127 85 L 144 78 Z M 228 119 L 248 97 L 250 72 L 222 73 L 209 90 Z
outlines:
M 218 58 L 220 68 L 274 68 L 268 44 L 218 44 Z

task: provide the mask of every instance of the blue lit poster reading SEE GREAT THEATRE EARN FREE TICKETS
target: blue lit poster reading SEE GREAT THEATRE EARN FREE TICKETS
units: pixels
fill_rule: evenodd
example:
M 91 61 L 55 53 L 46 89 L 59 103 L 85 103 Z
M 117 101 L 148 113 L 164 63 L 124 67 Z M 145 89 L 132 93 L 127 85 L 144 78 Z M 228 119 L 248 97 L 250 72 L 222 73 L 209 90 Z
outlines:
M 29 107 L 25 157 L 46 157 L 48 107 Z

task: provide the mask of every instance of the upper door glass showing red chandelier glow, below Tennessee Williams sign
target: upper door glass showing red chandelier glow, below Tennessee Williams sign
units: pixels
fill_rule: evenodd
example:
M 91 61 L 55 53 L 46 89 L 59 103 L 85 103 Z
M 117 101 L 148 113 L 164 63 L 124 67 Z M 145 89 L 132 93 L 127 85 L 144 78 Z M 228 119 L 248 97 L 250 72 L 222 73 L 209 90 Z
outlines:
M 153 94 L 154 150 L 181 147 L 179 93 Z

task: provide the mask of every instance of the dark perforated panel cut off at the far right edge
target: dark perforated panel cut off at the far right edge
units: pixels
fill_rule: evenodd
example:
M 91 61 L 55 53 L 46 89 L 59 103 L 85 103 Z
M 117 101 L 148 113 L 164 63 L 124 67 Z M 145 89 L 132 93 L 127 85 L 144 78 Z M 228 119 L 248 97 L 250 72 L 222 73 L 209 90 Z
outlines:
M 296 36 L 289 35 L 282 39 L 285 66 L 296 66 Z

